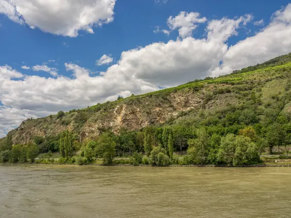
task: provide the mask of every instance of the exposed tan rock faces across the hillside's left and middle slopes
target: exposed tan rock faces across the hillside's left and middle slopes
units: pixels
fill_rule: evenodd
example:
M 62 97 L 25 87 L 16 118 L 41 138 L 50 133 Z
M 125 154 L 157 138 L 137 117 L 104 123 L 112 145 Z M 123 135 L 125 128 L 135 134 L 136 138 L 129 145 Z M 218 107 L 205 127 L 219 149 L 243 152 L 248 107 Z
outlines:
M 175 117 L 180 111 L 199 109 L 204 94 L 193 90 L 181 90 L 166 95 L 134 97 L 118 101 L 111 109 L 99 110 L 87 114 L 87 121 L 80 129 L 80 138 L 94 139 L 104 131 L 111 129 L 118 133 L 121 127 L 137 130 L 148 125 L 164 123 L 170 117 Z M 22 122 L 14 130 L 14 143 L 27 143 L 34 136 L 57 135 L 65 129 L 74 131 L 74 113 L 66 113 L 65 119 L 72 118 L 68 125 L 54 117 L 32 119 Z

